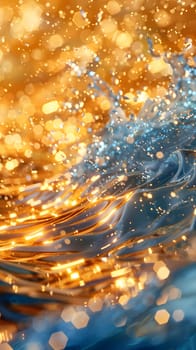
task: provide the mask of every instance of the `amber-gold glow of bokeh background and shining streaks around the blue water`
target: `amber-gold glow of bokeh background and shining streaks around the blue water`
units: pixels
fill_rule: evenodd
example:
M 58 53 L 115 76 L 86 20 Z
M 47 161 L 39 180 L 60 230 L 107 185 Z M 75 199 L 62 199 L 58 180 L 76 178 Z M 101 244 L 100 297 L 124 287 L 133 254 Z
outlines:
M 134 191 L 122 190 L 118 199 L 112 191 L 126 176 L 105 194 L 96 185 L 96 172 L 85 184 L 74 183 L 70 169 L 83 160 L 88 145 L 109 121 L 112 93 L 118 96 L 122 118 L 136 118 L 148 98 L 159 100 L 167 93 L 173 70 L 165 52 L 183 52 L 194 65 L 193 5 L 189 0 L 1 1 L 0 252 L 10 270 L 18 264 L 17 278 L 1 271 L 13 293 L 60 299 L 71 295 L 76 300 L 84 287 L 85 305 L 98 312 L 104 303 L 126 307 L 152 275 L 159 281 L 170 277 L 161 245 L 144 248 L 137 256 L 131 250 L 135 238 L 119 243 L 121 228 L 117 232 L 115 225 L 123 205 L 135 200 Z M 128 136 L 127 143 L 133 144 L 134 138 Z M 161 149 L 156 157 L 164 158 Z M 102 165 L 104 159 L 96 162 Z M 86 194 L 87 185 L 92 191 Z M 177 194 L 171 190 L 170 196 L 175 199 Z M 153 191 L 142 193 L 141 203 L 143 199 L 153 201 Z M 187 237 L 180 240 L 186 242 Z M 137 238 L 138 246 L 143 243 Z M 81 256 L 80 244 L 87 258 Z M 95 246 L 98 253 L 92 258 Z M 120 248 L 129 257 L 128 267 L 118 256 Z M 153 266 L 151 274 L 138 273 L 143 264 Z M 29 266 L 27 281 L 22 282 Z M 157 305 L 172 297 L 180 297 L 179 291 L 163 295 Z M 88 313 L 72 311 L 69 321 L 77 329 L 85 328 Z M 67 322 L 66 313 L 61 317 Z M 172 317 L 180 322 L 183 310 Z M 154 315 L 158 325 L 169 319 L 166 309 Z M 0 343 L 16 331 L 14 325 L 5 330 L 1 319 L 0 328 Z M 62 332 L 49 339 L 53 349 L 67 342 Z

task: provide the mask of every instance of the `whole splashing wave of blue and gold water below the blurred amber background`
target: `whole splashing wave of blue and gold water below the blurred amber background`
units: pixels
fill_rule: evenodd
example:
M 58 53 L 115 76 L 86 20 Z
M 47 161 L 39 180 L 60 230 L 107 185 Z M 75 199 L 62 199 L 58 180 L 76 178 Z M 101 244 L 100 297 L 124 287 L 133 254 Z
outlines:
M 137 119 L 85 71 L 110 101 L 104 129 L 60 176 L 4 187 L 0 337 L 14 349 L 194 344 L 196 70 L 168 62 L 168 94 Z

